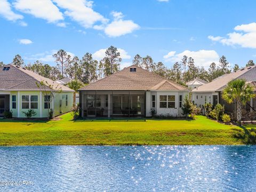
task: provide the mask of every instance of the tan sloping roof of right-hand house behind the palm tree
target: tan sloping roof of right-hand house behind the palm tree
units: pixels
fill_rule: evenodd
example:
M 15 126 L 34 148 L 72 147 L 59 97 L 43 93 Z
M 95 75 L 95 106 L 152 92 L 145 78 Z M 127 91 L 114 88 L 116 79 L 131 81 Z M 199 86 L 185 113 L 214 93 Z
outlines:
M 193 89 L 192 92 L 215 92 L 222 91 L 228 82 L 237 79 L 244 78 L 247 81 L 250 79 L 256 80 L 256 66 L 245 67 L 243 69 L 239 69 L 234 73 L 225 74 L 221 77 L 215 78 L 212 82 L 204 84 L 202 86 Z

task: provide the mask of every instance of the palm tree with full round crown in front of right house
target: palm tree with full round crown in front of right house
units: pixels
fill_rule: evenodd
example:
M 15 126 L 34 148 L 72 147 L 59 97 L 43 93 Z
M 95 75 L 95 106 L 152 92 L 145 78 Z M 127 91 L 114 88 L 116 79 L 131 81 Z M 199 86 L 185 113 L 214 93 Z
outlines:
M 236 119 L 239 125 L 241 125 L 242 107 L 254 97 L 253 87 L 251 84 L 247 84 L 245 79 L 230 81 L 222 94 L 222 98 L 227 103 L 236 102 Z

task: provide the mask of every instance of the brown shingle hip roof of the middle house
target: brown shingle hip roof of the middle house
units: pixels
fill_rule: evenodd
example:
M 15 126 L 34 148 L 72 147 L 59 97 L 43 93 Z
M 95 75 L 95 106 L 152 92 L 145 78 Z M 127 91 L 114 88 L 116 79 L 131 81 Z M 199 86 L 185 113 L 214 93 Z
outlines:
M 136 71 L 130 72 L 130 68 Z M 168 79 L 151 73 L 138 66 L 132 65 L 124 68 L 117 73 L 109 75 L 94 83 L 82 87 L 80 90 L 170 90 L 170 91 L 189 91 L 180 84 L 169 81 Z

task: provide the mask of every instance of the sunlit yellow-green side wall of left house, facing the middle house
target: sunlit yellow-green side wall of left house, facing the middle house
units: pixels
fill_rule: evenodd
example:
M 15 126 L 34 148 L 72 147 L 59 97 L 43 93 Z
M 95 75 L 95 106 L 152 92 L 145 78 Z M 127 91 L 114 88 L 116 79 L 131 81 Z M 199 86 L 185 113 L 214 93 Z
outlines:
M 68 95 L 68 105 L 66 105 Z M 73 92 L 61 92 L 54 95 L 54 116 L 67 113 L 73 106 Z

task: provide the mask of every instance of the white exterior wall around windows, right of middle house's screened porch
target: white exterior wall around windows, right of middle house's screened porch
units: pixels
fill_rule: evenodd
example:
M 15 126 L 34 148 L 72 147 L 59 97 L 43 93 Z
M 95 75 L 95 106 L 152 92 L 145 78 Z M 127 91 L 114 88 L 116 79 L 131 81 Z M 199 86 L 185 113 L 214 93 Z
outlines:
M 155 95 L 155 110 L 156 115 L 170 115 L 170 116 L 182 116 L 182 109 L 179 107 L 179 97 L 182 95 L 182 105 L 183 100 L 188 94 L 188 91 L 147 91 L 146 92 L 146 117 L 151 117 L 152 107 L 152 95 Z M 174 95 L 175 96 L 175 108 L 160 108 L 160 95 Z

